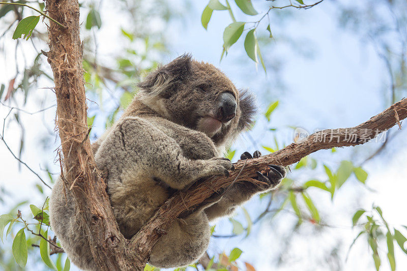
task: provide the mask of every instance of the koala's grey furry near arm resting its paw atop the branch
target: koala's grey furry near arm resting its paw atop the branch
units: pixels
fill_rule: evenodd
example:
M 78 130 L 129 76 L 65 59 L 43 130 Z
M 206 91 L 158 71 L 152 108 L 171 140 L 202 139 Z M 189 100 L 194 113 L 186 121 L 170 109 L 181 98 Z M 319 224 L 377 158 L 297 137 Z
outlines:
M 171 188 L 183 189 L 210 175 L 228 174 L 229 160 L 213 157 L 208 160 L 189 159 L 178 142 L 157 126 L 140 117 L 122 119 L 103 140 L 96 153 L 100 169 L 107 168 L 109 179 L 120 180 L 123 174 L 158 178 Z

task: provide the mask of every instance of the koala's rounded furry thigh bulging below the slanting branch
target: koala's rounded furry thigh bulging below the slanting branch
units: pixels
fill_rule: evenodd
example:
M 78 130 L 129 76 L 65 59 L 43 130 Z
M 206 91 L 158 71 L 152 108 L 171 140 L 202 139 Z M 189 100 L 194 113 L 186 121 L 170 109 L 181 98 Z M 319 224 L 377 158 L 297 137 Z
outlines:
M 149 263 L 172 268 L 197 261 L 208 249 L 211 231 L 205 213 L 194 213 L 173 222 L 154 246 Z

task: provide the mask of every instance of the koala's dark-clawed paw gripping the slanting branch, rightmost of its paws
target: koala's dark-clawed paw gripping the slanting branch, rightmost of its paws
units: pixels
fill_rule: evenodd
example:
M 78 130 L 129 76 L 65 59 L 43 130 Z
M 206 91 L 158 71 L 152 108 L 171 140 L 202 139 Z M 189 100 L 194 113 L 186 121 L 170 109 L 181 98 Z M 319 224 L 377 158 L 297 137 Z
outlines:
M 240 159 L 242 160 L 253 159 L 258 158 L 260 156 L 261 153 L 258 150 L 256 150 L 253 153 L 253 156 L 248 152 L 244 152 L 240 156 Z M 285 177 L 286 171 L 283 166 L 269 165 L 269 167 L 270 171 L 267 172 L 267 174 L 263 174 L 259 171 L 256 172 L 257 173 L 256 179 L 266 184 L 264 187 L 259 187 L 259 189 L 261 190 L 270 190 L 272 188 L 275 188 L 280 184 L 281 180 Z

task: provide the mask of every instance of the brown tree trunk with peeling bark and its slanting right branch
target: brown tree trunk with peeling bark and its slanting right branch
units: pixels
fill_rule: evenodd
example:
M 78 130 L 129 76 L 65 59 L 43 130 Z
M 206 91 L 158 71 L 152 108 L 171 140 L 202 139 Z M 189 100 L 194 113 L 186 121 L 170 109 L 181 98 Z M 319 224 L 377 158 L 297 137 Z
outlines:
M 215 191 L 234 182 L 245 161 L 235 164 L 229 177 L 211 177 L 187 192 L 168 199 L 153 218 L 131 240 L 120 233 L 114 219 L 106 185 L 96 168 L 86 124 L 86 97 L 83 86 L 82 43 L 79 37 L 79 4 L 77 0 L 47 0 L 46 9 L 55 20 L 49 22 L 48 62 L 54 75 L 57 101 L 57 127 L 64 154 L 63 175 L 66 193 L 72 193 L 79 210 L 77 220 L 88 236 L 92 255 L 101 270 L 143 270 L 158 238 L 172 221 L 209 198 Z M 407 117 L 407 99 L 392 105 L 369 121 L 352 129 L 356 142 L 348 142 L 345 129 L 324 130 L 310 135 L 270 155 L 247 161 L 237 181 L 255 182 L 256 171 L 266 171 L 269 164 L 290 165 L 319 149 L 363 144 L 363 137 L 385 131 Z M 370 134 L 366 131 L 371 131 Z M 319 142 L 318 138 L 326 138 Z M 331 140 L 332 139 L 332 140 Z M 329 142 L 332 141 L 332 142 Z M 70 190 L 69 188 L 72 189 Z

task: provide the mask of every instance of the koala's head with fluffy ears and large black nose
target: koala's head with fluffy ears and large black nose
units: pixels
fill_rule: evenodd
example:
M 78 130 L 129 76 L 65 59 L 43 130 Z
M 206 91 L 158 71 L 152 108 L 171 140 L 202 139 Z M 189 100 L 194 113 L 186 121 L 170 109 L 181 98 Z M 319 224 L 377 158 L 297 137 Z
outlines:
M 182 55 L 138 84 L 138 99 L 170 121 L 207 134 L 220 145 L 250 126 L 254 97 L 238 91 L 212 64 Z

